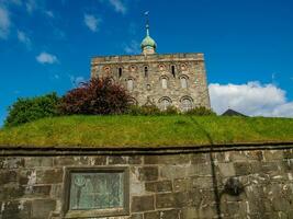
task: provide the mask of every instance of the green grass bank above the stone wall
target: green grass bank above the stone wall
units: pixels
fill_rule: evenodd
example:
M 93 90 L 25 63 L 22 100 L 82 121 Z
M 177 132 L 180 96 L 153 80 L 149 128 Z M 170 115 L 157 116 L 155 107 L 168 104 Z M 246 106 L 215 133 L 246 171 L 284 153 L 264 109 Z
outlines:
M 0 129 L 9 147 L 165 147 L 293 142 L 293 119 L 217 116 L 67 116 Z

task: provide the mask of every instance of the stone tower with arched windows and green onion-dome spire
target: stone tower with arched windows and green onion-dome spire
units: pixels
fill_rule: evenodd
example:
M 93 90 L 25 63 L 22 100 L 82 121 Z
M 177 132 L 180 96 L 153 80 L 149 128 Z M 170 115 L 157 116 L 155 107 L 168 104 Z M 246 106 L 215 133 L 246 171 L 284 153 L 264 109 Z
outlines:
M 92 58 L 91 77 L 110 77 L 121 83 L 133 104 L 155 104 L 161 110 L 173 105 L 180 111 L 211 108 L 203 54 L 156 54 L 148 19 L 140 47 L 140 55 Z

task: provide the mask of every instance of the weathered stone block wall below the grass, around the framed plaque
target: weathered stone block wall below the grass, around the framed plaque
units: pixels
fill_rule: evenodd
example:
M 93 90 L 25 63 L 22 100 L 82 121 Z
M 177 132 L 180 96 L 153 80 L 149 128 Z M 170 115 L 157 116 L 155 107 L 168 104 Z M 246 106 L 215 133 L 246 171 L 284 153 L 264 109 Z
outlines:
M 40 152 L 41 154 L 42 152 Z M 140 155 L 0 157 L 0 218 L 61 218 L 69 166 L 127 166 L 128 216 L 109 219 L 293 218 L 293 149 Z M 225 193 L 235 176 L 238 196 Z M 215 186 L 217 184 L 217 200 Z M 219 203 L 219 204 L 218 204 Z

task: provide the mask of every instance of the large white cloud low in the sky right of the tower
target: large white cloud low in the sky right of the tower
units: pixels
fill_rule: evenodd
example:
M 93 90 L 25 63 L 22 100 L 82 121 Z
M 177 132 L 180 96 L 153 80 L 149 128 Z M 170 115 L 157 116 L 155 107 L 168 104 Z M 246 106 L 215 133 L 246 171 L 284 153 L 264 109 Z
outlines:
M 250 116 L 293 117 L 293 102 L 288 102 L 285 91 L 272 83 L 212 83 L 209 90 L 212 107 L 217 114 L 229 107 Z

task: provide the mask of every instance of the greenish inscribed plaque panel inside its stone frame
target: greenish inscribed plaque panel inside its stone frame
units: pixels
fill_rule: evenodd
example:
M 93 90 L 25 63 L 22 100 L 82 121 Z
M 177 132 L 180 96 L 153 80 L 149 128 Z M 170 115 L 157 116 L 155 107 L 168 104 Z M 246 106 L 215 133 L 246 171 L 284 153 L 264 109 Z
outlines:
M 69 193 L 69 210 L 123 208 L 124 173 L 71 173 Z

